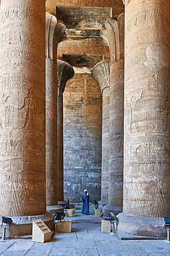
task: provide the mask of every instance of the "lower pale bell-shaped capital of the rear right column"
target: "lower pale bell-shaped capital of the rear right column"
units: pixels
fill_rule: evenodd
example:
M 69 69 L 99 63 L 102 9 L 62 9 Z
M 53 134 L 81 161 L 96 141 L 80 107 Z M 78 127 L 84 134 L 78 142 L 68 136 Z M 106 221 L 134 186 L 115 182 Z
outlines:
M 105 60 L 96 64 L 92 69 L 92 77 L 98 81 L 102 92 L 108 88 L 110 86 L 110 61 Z

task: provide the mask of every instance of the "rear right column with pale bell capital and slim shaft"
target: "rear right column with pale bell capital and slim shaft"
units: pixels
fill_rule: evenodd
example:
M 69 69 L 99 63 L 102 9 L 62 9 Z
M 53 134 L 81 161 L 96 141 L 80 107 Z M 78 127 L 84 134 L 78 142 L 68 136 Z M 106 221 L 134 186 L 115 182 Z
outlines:
M 109 194 L 109 92 L 110 62 L 99 62 L 92 69 L 92 77 L 100 84 L 103 93 L 103 127 L 102 127 L 102 180 L 101 201 L 108 201 Z

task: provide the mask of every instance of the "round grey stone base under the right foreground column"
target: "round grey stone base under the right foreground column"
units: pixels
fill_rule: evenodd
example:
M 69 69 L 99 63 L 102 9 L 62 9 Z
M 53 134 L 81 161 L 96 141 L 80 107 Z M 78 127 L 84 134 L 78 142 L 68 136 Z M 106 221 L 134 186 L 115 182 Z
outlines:
M 134 217 L 118 214 L 118 231 L 145 237 L 166 237 L 163 218 Z

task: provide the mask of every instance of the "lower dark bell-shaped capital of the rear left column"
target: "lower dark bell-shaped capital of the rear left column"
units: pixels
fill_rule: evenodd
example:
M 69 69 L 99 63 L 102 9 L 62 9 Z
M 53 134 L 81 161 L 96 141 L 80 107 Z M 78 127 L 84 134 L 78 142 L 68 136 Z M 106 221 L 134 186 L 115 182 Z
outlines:
M 57 86 L 64 92 L 65 84 L 74 77 L 74 68 L 63 60 L 57 60 Z

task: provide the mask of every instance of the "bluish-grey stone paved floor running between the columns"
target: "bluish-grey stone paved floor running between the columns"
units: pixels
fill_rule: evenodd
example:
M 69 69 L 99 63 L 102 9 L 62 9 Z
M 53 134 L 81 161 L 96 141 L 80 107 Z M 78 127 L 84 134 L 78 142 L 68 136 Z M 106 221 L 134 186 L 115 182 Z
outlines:
M 30 236 L 0 240 L 0 255 L 170 256 L 170 243 L 164 240 L 121 241 L 117 234 L 100 232 L 100 218 L 92 214 L 85 216 L 76 210 L 72 233 L 58 233 L 45 244 L 33 243 Z

